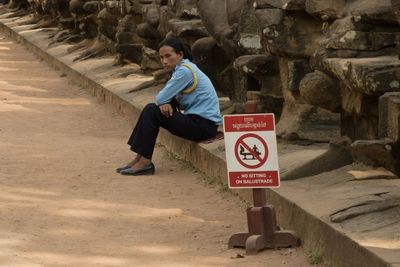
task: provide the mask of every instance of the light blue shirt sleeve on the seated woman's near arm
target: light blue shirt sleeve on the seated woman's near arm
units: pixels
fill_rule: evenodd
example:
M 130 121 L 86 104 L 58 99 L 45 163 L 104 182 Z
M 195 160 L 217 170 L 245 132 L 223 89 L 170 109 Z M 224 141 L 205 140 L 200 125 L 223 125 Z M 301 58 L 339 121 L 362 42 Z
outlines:
M 156 104 L 169 103 L 179 92 L 193 83 L 192 72 L 186 67 L 179 67 L 172 74 L 171 79 L 164 88 L 156 95 Z

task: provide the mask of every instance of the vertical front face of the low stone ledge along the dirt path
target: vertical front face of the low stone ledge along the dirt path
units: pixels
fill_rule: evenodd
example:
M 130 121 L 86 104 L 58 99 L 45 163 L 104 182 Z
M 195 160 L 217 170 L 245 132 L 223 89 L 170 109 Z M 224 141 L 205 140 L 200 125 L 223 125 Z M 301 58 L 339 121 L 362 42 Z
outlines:
M 45 60 L 56 70 L 62 71 L 71 81 L 82 86 L 93 96 L 96 96 L 100 102 L 112 106 L 127 117 L 131 117 L 132 115 L 137 117 L 139 115 L 141 111 L 140 107 L 135 106 L 128 99 L 124 99 L 111 92 L 106 87 L 51 56 L 1 21 L 0 31 L 7 34 L 14 41 L 23 44 L 29 51 Z M 216 142 L 216 144 L 210 145 L 197 144 L 173 136 L 167 131 L 160 131 L 158 140 L 167 150 L 178 155 L 179 158 L 190 162 L 206 175 L 216 177 L 222 183 L 226 183 L 226 161 L 218 153 L 215 153 L 216 150 L 220 149 L 218 146 L 221 143 L 218 144 Z M 281 186 L 285 186 L 285 181 L 282 181 Z M 251 190 L 235 190 L 234 193 L 242 199 L 252 202 Z M 284 229 L 295 231 L 301 238 L 305 251 L 321 253 L 324 262 L 329 266 L 393 266 L 344 233 L 334 229 L 329 223 L 303 209 L 300 206 L 301 203 L 291 201 L 289 196 L 283 196 L 275 190 L 267 189 L 267 201 L 269 204 L 274 205 L 279 225 Z M 243 216 L 246 215 L 243 214 Z

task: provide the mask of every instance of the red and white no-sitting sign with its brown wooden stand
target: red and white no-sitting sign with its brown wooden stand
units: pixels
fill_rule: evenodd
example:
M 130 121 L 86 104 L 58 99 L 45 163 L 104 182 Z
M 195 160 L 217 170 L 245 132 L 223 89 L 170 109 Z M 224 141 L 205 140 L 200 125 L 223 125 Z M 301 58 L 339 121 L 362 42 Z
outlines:
M 229 188 L 252 188 L 254 201 L 247 209 L 249 232 L 232 235 L 229 248 L 257 254 L 265 248 L 298 246 L 293 231 L 279 230 L 275 209 L 266 203 L 265 188 L 280 186 L 274 114 L 224 116 L 224 139 Z

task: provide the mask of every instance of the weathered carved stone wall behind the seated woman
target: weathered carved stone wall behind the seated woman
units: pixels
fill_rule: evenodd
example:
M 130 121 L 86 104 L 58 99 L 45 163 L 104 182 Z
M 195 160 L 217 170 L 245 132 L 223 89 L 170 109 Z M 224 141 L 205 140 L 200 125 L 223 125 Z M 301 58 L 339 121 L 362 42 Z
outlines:
M 356 160 L 400 173 L 400 0 L 3 0 L 55 27 L 76 60 L 105 54 L 155 73 L 184 39 L 224 114 L 273 112 L 283 139 L 350 138 Z M 44 19 L 46 18 L 46 19 Z M 161 75 L 162 76 L 162 75 Z

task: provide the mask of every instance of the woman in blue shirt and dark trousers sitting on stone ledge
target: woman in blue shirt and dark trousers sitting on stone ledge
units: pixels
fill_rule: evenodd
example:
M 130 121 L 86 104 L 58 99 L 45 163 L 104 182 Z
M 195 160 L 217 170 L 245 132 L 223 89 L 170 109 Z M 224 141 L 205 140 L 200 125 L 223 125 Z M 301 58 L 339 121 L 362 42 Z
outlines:
M 123 175 L 154 174 L 151 161 L 160 127 L 174 135 L 201 141 L 215 137 L 222 123 L 219 100 L 210 79 L 190 62 L 189 48 L 178 38 L 168 37 L 159 45 L 161 63 L 172 77 L 147 104 L 128 140 L 136 157 L 118 168 Z M 183 113 L 179 108 L 184 110 Z

